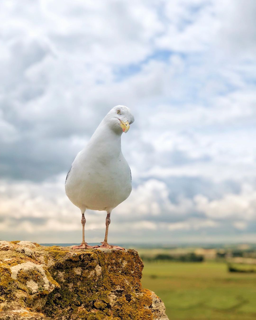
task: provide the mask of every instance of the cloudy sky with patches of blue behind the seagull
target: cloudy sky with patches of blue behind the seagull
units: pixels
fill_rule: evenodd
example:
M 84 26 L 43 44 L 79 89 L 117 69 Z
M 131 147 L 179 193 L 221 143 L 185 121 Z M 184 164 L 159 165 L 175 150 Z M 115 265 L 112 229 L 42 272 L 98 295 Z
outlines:
M 2 0 L 0 20 L 0 240 L 81 241 L 65 178 L 125 105 L 109 243 L 256 241 L 254 0 Z M 105 216 L 86 211 L 88 243 Z

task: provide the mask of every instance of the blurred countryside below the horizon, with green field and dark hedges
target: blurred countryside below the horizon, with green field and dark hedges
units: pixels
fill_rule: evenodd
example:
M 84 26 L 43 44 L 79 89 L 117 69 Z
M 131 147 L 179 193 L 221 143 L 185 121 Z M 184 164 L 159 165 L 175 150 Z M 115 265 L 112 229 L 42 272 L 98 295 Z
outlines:
M 141 283 L 164 301 L 169 319 L 256 318 L 256 244 L 122 245 L 139 252 Z

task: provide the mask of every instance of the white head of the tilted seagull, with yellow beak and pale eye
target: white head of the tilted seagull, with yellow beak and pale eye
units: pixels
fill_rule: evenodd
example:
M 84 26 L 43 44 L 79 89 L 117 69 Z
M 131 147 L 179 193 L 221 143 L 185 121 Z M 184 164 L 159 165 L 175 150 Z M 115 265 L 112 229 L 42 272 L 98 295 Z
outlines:
M 105 119 L 108 121 L 109 126 L 116 133 L 126 133 L 130 124 L 134 122 L 134 116 L 131 114 L 131 110 L 125 106 L 116 106 L 112 108 Z

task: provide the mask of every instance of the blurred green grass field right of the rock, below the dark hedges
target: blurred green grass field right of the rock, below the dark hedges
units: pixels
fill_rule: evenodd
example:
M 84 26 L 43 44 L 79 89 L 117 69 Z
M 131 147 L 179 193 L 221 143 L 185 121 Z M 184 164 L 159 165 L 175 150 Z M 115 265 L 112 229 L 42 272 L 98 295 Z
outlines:
M 144 262 L 142 285 L 170 320 L 256 319 L 256 274 L 229 273 L 224 262 Z

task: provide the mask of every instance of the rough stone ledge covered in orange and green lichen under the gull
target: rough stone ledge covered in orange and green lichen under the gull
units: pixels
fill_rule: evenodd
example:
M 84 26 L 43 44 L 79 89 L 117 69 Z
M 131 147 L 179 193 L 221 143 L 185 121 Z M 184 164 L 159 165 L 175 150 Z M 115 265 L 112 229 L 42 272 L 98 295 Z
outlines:
M 0 241 L 0 319 L 168 320 L 134 250 Z

